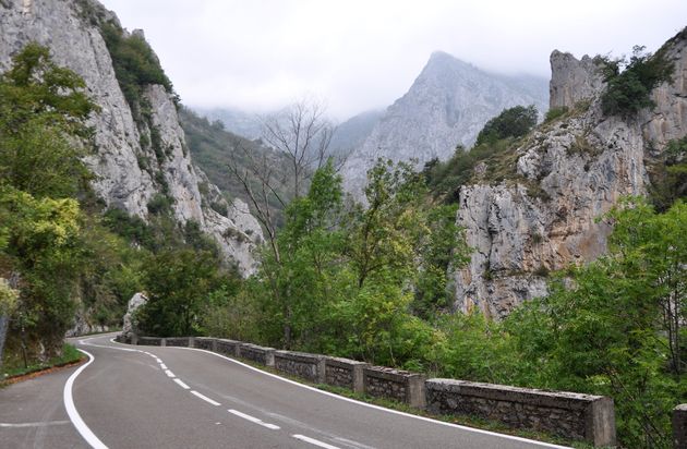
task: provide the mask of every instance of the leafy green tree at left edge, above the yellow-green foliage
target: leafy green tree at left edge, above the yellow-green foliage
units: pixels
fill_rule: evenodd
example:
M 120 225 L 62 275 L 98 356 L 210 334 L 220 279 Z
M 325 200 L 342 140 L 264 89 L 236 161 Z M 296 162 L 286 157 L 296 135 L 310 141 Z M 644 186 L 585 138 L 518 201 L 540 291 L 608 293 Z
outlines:
M 0 75 L 0 182 L 38 196 L 67 197 L 89 173 L 74 137 L 86 137 L 97 110 L 75 73 L 47 48 L 28 44 Z

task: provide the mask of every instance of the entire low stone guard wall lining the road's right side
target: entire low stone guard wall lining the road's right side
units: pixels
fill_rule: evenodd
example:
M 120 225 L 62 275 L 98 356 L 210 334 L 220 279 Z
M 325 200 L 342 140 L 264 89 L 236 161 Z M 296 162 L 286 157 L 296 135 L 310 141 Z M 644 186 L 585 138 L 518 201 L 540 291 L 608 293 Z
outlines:
M 615 445 L 615 412 L 611 398 L 453 379 L 427 380 L 419 373 L 209 337 L 165 339 L 132 336 L 118 338 L 118 341 L 189 345 L 246 359 L 313 383 L 401 401 L 435 414 L 481 416 L 516 428 L 542 429 L 571 439 L 583 439 L 594 446 Z M 687 448 L 687 404 L 674 410 L 673 427 L 675 448 Z

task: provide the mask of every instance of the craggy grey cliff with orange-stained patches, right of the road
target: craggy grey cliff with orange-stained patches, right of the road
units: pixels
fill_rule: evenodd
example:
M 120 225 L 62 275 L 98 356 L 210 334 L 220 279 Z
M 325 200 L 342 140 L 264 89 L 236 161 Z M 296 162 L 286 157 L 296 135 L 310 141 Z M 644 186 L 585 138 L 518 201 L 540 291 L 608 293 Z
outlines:
M 647 161 L 687 134 L 687 28 L 664 49 L 673 80 L 652 93 L 656 107 L 623 120 L 602 113 L 594 62 L 554 51 L 551 107 L 568 107 L 517 148 L 515 173 L 498 185 L 460 192 L 458 222 L 474 248 L 454 272 L 456 307 L 504 316 L 546 292 L 550 270 L 592 260 L 610 227 L 596 219 L 625 195 L 647 191 Z

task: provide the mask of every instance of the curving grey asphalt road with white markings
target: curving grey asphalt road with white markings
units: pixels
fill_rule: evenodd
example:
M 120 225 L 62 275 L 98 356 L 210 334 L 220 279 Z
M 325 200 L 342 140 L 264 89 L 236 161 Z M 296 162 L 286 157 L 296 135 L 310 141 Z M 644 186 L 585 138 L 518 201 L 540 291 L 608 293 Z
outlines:
M 0 448 L 555 448 L 363 404 L 210 352 L 76 339 L 91 361 L 0 390 Z

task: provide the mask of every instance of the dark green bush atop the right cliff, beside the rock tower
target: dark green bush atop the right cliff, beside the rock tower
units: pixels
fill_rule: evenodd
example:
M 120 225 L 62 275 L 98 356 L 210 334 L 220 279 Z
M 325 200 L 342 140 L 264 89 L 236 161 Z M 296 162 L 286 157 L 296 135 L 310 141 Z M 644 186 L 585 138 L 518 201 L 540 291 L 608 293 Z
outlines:
M 646 53 L 636 46 L 629 61 L 602 58 L 606 90 L 601 97 L 603 112 L 608 116 L 631 118 L 643 108 L 654 107 L 651 90 L 671 81 L 675 66 L 665 58 L 665 49 L 655 54 Z

